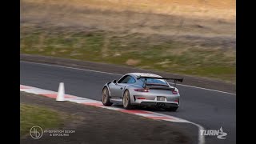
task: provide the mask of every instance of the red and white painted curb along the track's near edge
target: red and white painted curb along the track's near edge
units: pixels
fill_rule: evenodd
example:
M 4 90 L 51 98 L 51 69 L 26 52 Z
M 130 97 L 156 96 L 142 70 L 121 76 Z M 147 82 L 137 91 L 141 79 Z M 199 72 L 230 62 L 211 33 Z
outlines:
M 20 85 L 20 91 L 24 91 L 27 93 L 32 93 L 32 94 L 39 94 L 48 98 L 57 98 L 58 93 L 55 91 L 51 91 L 51 90 L 43 90 L 37 87 L 33 87 L 33 86 L 24 86 L 24 85 Z M 150 118 L 150 119 L 155 119 L 155 120 L 163 120 L 163 121 L 168 121 L 168 122 L 186 122 L 186 123 L 190 123 L 193 124 L 195 126 L 198 126 L 199 128 L 199 137 L 198 137 L 198 143 L 199 144 L 203 144 L 205 142 L 204 137 L 200 134 L 200 130 L 203 130 L 203 127 L 194 123 L 194 122 L 189 122 L 185 119 L 182 118 L 176 118 L 170 115 L 166 115 L 166 114 L 159 114 L 159 113 L 155 113 L 152 111 L 146 111 L 146 110 L 125 110 L 122 108 L 118 108 L 118 107 L 114 107 L 114 106 L 103 106 L 102 102 L 100 101 L 96 101 L 93 99 L 89 99 L 89 98 L 82 98 L 82 97 L 77 97 L 74 95 L 70 95 L 70 94 L 65 94 L 64 96 L 65 101 L 69 101 L 69 102 L 76 102 L 76 103 L 80 103 L 83 105 L 87 105 L 87 106 L 97 106 L 97 107 L 101 107 L 104 109 L 109 109 L 109 110 L 117 110 L 123 113 L 128 113 L 128 114 L 135 114 L 138 116 L 142 116 L 142 117 L 146 117 L 146 118 Z

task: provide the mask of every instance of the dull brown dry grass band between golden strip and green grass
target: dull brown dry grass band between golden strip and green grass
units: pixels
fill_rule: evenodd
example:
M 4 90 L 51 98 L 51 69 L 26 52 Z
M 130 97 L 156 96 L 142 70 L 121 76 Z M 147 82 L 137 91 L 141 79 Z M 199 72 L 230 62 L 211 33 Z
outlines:
M 74 1 L 74 2 L 73 2 Z M 222 42 L 223 39 L 235 38 L 235 22 L 220 19 L 184 18 L 176 15 L 142 14 L 135 12 L 115 13 L 110 10 L 94 10 L 84 5 L 78 6 L 77 0 L 60 1 L 31 1 L 22 0 L 22 25 L 33 22 L 54 26 L 66 26 L 81 30 L 114 31 L 121 37 L 126 34 L 148 35 L 160 34 L 158 41 L 169 41 L 167 37 L 177 38 L 178 41 Z M 90 2 L 90 1 L 85 1 Z M 94 2 L 94 1 L 93 1 Z M 98 1 L 95 1 L 98 2 Z M 55 5 L 55 4 L 56 5 Z M 57 4 L 58 3 L 58 4 Z M 102 4 L 103 5 L 103 4 Z M 221 14 L 222 15 L 222 14 Z M 69 29 L 68 29 L 69 30 Z M 116 35 L 115 34 L 115 35 Z M 218 37 L 214 39 L 214 37 Z

